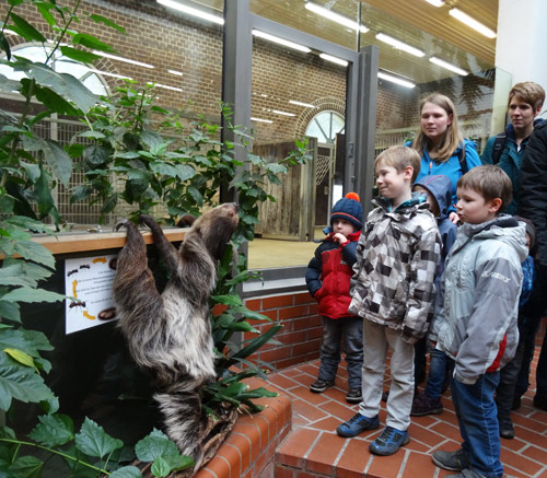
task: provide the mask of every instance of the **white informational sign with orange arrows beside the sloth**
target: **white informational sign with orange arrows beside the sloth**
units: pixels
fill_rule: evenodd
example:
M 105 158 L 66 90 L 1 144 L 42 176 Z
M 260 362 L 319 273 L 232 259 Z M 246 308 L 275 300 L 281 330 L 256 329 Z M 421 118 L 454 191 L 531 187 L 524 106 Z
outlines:
M 116 256 L 81 257 L 65 261 L 66 333 L 84 330 L 116 318 L 112 283 Z

